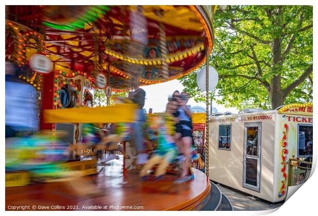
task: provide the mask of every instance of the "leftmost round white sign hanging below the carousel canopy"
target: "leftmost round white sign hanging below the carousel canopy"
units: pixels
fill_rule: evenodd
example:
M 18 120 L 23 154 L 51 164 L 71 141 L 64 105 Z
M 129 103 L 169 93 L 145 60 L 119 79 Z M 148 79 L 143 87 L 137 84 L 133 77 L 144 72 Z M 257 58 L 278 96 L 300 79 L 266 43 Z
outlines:
M 38 73 L 48 74 L 53 69 L 53 63 L 50 58 L 41 54 L 34 54 L 30 58 L 30 67 Z

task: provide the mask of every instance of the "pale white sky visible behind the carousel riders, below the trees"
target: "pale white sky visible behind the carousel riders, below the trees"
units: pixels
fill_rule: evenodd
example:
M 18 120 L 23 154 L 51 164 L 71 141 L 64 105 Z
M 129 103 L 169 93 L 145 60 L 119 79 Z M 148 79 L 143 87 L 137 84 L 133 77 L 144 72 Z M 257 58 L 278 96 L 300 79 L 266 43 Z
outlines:
M 149 108 L 152 108 L 152 112 L 164 112 L 166 110 L 166 104 L 168 102 L 168 97 L 172 95 L 175 90 L 182 92 L 184 87 L 179 80 L 171 80 L 168 82 L 147 85 L 140 87 L 141 89 L 145 90 L 146 92 L 146 100 L 144 109 L 149 111 Z M 188 105 L 192 106 L 202 106 L 206 107 L 205 102 L 196 103 L 192 98 L 189 100 Z M 231 112 L 237 113 L 238 110 L 235 107 L 226 108 L 221 104 L 216 104 L 214 101 L 212 103 L 213 107 L 216 107 L 217 112 L 224 113 L 224 112 Z M 209 108 L 210 109 L 210 108 Z

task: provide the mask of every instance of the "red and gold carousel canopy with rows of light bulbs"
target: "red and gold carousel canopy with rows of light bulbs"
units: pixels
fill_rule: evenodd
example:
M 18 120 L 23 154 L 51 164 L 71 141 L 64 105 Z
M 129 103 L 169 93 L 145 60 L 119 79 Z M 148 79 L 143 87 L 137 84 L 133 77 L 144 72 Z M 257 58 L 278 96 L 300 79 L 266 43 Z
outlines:
M 53 70 L 84 71 L 92 77 L 104 73 L 113 90 L 165 82 L 203 64 L 212 49 L 214 10 L 213 6 L 7 6 L 6 57 L 27 64 L 31 55 L 44 53 L 53 61 Z M 19 42 L 21 50 L 14 47 Z

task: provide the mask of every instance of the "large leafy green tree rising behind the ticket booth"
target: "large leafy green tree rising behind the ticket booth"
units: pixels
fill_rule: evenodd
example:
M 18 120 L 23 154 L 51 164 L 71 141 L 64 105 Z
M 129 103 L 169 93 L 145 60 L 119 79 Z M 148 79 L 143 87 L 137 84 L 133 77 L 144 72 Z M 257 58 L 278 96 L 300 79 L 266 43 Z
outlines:
M 213 25 L 209 64 L 219 74 L 212 93 L 221 95 L 217 103 L 275 109 L 312 101 L 312 6 L 227 6 L 215 12 Z M 191 97 L 204 101 L 196 74 L 180 80 Z

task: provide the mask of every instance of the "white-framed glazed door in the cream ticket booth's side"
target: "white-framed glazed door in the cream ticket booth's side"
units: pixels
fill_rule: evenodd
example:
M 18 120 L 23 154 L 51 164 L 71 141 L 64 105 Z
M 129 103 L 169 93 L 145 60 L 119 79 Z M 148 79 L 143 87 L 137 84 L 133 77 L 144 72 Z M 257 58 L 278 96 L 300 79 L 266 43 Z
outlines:
M 243 187 L 260 192 L 261 123 L 244 124 Z

